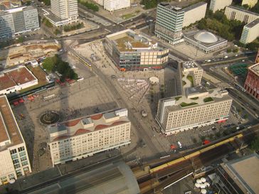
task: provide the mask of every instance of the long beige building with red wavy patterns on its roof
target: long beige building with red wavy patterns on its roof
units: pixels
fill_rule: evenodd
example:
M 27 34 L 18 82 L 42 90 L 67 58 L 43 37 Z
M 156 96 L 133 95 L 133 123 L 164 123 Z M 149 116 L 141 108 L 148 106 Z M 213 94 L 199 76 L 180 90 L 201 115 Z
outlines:
M 130 143 L 127 109 L 120 109 L 49 126 L 53 166 L 93 156 Z

